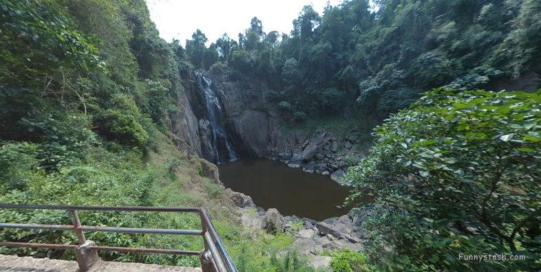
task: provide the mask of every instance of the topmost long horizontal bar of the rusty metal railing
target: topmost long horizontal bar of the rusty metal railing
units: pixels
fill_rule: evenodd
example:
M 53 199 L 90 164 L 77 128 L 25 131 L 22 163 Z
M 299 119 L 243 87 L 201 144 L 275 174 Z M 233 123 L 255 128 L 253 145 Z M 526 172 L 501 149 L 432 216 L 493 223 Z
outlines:
M 78 211 L 118 211 L 118 212 L 195 212 L 198 207 L 127 207 L 127 206 L 76 206 L 76 205 L 16 205 L 0 203 L 0 208 L 8 209 L 75 209 Z

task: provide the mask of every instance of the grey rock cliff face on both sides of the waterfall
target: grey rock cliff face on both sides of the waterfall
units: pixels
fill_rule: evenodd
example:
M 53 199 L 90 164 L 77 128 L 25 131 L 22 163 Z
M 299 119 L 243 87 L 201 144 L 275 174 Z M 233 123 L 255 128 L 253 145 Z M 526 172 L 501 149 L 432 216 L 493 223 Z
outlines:
M 339 177 L 362 156 L 365 139 L 358 128 L 333 135 L 325 128 L 283 133 L 286 126 L 280 113 L 267 100 L 264 82 L 241 84 L 224 73 L 203 73 L 223 106 L 224 128 L 235 154 L 240 157 L 279 159 L 305 172 Z M 205 98 L 194 73 L 184 79 L 184 93 L 174 122 L 173 133 L 184 139 L 184 146 L 194 154 L 215 161 L 209 118 L 205 115 Z M 174 118 L 173 118 L 174 119 Z

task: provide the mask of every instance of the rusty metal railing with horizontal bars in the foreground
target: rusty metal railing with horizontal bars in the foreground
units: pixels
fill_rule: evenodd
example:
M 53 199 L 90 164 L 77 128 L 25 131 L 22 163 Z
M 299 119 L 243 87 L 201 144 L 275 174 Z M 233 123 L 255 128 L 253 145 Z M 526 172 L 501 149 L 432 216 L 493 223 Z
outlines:
M 87 247 L 94 251 L 120 251 L 138 253 L 163 253 L 200 256 L 202 267 L 204 260 L 209 260 L 211 269 L 218 272 L 237 272 L 233 260 L 227 253 L 220 236 L 216 232 L 209 215 L 204 207 L 123 207 L 123 206 L 74 206 L 74 205 L 13 205 L 0 203 L 3 209 L 57 209 L 67 210 L 72 218 L 73 225 L 32 225 L 19 223 L 0 223 L 0 227 L 18 229 L 54 229 L 63 231 L 75 231 L 79 245 L 41 244 L 30 242 L 0 242 L 0 247 L 31 247 L 49 249 L 76 249 L 84 245 L 87 240 L 84 231 L 110 231 L 131 234 L 176 234 L 186 236 L 202 236 L 204 249 L 200 251 L 178 250 L 178 249 L 147 249 L 135 247 L 105 247 L 91 245 Z M 192 229 L 147 229 L 132 227 L 98 227 L 81 225 L 77 211 L 115 211 L 115 212 L 189 212 L 198 214 L 201 218 L 202 228 Z M 210 254 L 210 256 L 209 256 Z M 211 258 L 210 258 L 211 257 Z M 81 266 L 81 264 L 80 264 Z M 205 271 L 205 270 L 204 270 Z

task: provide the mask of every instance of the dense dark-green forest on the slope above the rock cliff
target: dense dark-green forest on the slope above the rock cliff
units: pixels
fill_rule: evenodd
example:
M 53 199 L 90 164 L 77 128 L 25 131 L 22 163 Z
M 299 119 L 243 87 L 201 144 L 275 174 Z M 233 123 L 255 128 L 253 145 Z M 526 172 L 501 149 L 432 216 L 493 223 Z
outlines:
M 214 48 L 233 72 L 270 82 L 292 112 L 353 106 L 383 120 L 434 87 L 538 89 L 539 14 L 534 0 L 352 0 L 323 14 L 307 5 L 281 37 L 255 17 L 237 44 Z

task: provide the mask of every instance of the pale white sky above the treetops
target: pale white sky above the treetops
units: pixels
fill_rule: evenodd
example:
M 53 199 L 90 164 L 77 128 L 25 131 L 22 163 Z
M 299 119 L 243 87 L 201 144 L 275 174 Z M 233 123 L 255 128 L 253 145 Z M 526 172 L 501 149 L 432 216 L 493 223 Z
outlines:
M 182 45 L 191 40 L 195 30 L 200 29 L 214 43 L 227 33 L 235 41 L 240 32 L 250 27 L 254 16 L 262 21 L 263 31 L 273 30 L 287 34 L 293 30 L 304 5 L 312 5 L 320 14 L 327 6 L 335 6 L 343 0 L 146 0 L 150 18 L 165 41 L 176 38 Z

